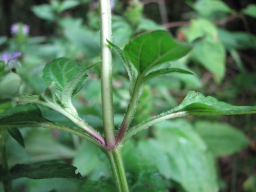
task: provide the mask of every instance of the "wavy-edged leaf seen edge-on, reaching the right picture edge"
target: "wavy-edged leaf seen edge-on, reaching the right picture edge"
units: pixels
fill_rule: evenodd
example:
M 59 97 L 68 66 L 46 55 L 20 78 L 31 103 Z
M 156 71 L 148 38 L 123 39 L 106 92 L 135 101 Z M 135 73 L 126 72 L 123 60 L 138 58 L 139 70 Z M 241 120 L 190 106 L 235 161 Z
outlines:
M 240 115 L 256 113 L 256 106 L 236 106 L 216 98 L 189 91 L 179 106 L 169 112 L 186 112 L 188 115 Z

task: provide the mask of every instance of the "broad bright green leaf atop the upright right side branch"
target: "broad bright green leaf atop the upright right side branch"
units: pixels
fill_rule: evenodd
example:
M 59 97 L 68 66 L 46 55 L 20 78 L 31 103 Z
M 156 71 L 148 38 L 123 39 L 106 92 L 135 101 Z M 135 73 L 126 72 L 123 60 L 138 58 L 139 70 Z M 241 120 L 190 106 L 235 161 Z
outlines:
M 166 31 L 155 31 L 138 35 L 124 48 L 139 73 L 145 73 L 161 63 L 185 56 L 191 47 L 176 42 Z

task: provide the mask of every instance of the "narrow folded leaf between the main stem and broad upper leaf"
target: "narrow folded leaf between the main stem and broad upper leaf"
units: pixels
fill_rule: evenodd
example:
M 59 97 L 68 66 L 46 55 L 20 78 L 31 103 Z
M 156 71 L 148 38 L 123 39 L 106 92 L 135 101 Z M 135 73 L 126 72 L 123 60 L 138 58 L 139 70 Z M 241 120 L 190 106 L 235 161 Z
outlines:
M 131 81 L 131 90 L 133 90 L 136 78 L 138 76 L 138 72 L 137 72 L 136 68 L 132 65 L 131 61 L 129 59 L 127 59 L 127 57 L 125 56 L 125 54 L 123 53 L 123 50 L 121 48 L 119 48 L 117 45 L 113 44 L 113 42 L 111 42 L 109 40 L 107 40 L 107 41 L 110 44 L 110 46 L 115 49 L 115 51 L 118 53 L 118 55 L 122 59 L 123 65 L 128 73 L 129 79 Z

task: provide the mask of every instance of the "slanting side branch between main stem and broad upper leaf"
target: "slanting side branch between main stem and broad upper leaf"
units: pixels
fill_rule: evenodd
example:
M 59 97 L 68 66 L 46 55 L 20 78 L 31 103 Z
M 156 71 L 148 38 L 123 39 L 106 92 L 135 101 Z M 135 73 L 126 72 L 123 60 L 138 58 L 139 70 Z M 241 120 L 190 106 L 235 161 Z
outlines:
M 134 116 L 135 111 L 136 111 L 137 106 L 138 106 L 138 100 L 139 100 L 139 95 L 140 95 L 139 93 L 140 93 L 140 90 L 141 90 L 142 81 L 143 81 L 143 74 L 139 75 L 137 80 L 136 80 L 131 101 L 129 103 L 129 106 L 127 108 L 127 111 L 125 113 L 125 116 L 123 118 L 122 124 L 120 126 L 119 132 L 118 132 L 117 137 L 116 137 L 116 142 L 117 143 L 119 143 L 121 141 L 125 131 L 127 130 L 127 127 L 130 126 L 130 124 L 133 120 L 133 116 Z

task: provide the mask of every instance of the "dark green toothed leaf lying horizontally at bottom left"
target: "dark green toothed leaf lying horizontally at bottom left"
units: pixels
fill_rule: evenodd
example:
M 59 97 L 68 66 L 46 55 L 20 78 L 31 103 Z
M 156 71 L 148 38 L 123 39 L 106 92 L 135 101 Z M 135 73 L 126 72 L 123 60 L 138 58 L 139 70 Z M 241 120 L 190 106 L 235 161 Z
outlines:
M 17 164 L 10 169 L 8 174 L 0 173 L 1 179 L 13 180 L 27 177 L 31 179 L 45 178 L 71 178 L 82 180 L 82 176 L 75 173 L 77 168 L 63 163 L 34 163 L 34 164 Z

